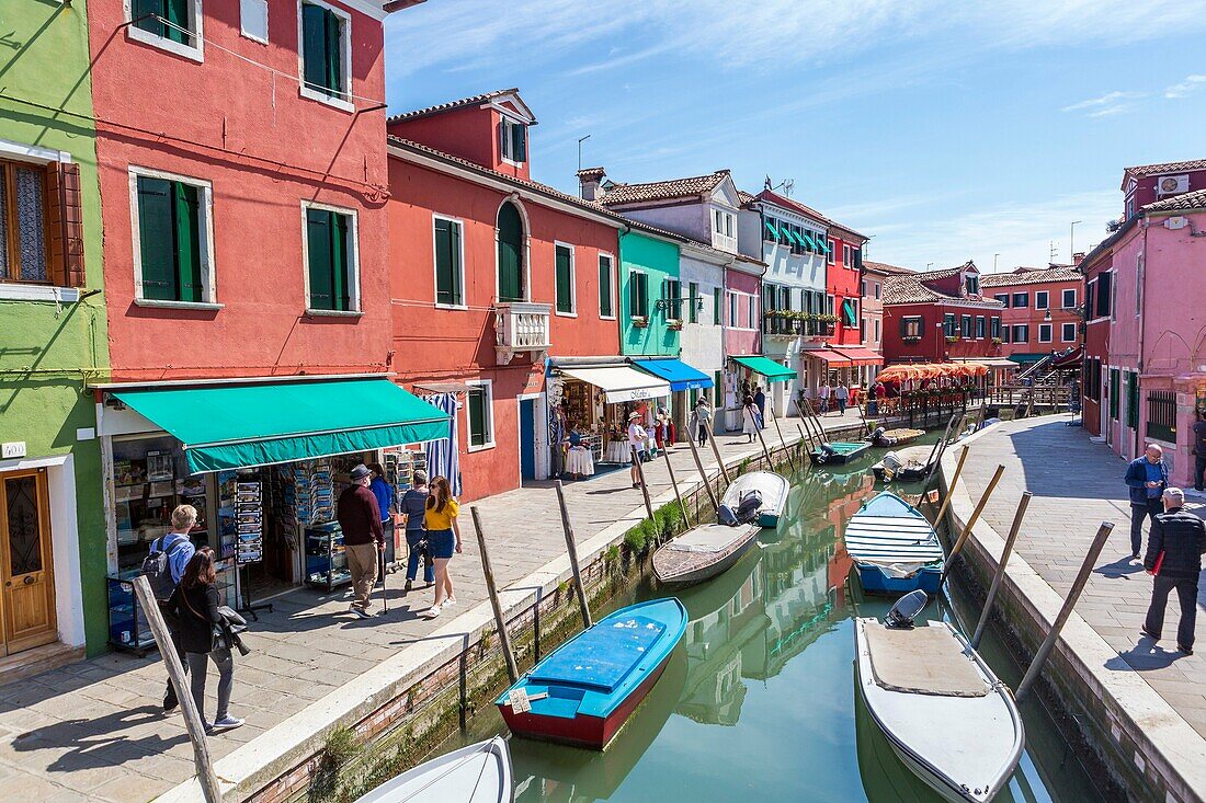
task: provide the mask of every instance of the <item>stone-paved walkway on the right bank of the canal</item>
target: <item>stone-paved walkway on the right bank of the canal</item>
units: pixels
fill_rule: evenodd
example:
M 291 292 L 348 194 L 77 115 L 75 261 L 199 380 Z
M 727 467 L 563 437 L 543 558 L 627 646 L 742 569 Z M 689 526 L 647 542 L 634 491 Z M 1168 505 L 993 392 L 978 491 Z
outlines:
M 1097 527 L 1102 521 L 1114 523 L 1076 612 L 1117 651 L 1118 657 L 1107 662 L 1107 668 L 1137 673 L 1206 737 L 1206 647 L 1193 656 L 1176 650 L 1179 609 L 1175 593 L 1165 615 L 1164 639 L 1153 644 L 1140 638 L 1152 579 L 1142 565 L 1130 561 L 1130 503 L 1123 483 L 1126 463 L 1105 445 L 1091 442 L 1083 429 L 1067 427 L 1066 421 L 1066 416 L 1044 416 L 985 430 L 972 442 L 959 483 L 973 500 L 979 500 L 993 471 L 1005 465 L 1005 475 L 983 514 L 1002 537 L 1009 532 L 1021 492 L 1034 494 L 1015 550 L 1061 598 Z M 956 451 L 948 452 L 948 471 L 950 453 Z M 1189 497 L 1185 508 L 1199 515 L 1206 512 L 1196 497 Z M 1146 533 L 1144 527 L 1144 550 Z M 1200 596 L 1199 609 L 1204 606 L 1206 597 Z M 1206 641 L 1199 640 L 1199 645 Z

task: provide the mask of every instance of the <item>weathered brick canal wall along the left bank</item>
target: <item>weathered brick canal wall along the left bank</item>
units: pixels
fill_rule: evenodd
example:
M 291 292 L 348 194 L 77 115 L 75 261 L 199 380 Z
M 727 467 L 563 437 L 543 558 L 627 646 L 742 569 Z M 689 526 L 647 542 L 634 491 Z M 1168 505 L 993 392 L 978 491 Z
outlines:
M 860 422 L 826 430 L 826 434 L 832 440 L 841 440 L 857 439 L 862 432 Z M 800 442 L 789 439 L 788 446 L 772 449 L 773 463 L 785 468 L 789 452 L 796 465 L 808 461 Z M 728 461 L 726 468 L 733 474 L 766 470 L 768 467 L 766 457 L 759 456 Z M 719 498 L 724 490 L 719 473 L 710 485 Z M 698 476 L 693 480 L 679 477 L 679 487 L 691 520 L 699 521 L 701 516 L 707 520 L 710 503 Z M 677 522 L 680 512 L 673 497 L 667 499 L 665 494 L 655 500 L 654 508 L 658 522 L 663 524 L 656 535 L 656 543 L 661 543 L 680 531 L 679 523 L 665 523 L 667 518 Z M 614 533 L 605 543 L 589 539 L 589 551 L 584 550 L 584 539 L 579 538 L 584 585 L 592 610 L 646 576 L 648 558 L 656 544 L 646 541 L 642 545 L 644 539 L 633 534 L 645 522 Z M 532 585 L 520 581 L 511 587 L 531 588 Z M 521 672 L 580 627 L 568 569 L 549 575 L 537 591 L 529 592 L 521 604 L 508 610 L 508 633 Z M 227 793 L 226 799 L 253 803 L 355 799 L 415 766 L 463 726 L 479 707 L 493 704 L 494 697 L 509 685 L 494 629 L 493 620 L 484 622 L 464 637 L 459 649 L 445 650 L 409 673 L 387 693 L 365 701 L 352 713 L 334 717 L 329 728 L 299 744 L 287 758 L 252 773 Z

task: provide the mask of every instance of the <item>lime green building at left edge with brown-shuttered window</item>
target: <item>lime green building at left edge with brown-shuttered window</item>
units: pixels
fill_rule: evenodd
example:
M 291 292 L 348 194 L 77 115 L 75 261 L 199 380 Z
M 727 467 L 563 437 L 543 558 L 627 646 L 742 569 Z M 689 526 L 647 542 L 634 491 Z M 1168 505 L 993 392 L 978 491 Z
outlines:
M 101 652 L 109 631 L 86 4 L 0 2 L 0 682 Z

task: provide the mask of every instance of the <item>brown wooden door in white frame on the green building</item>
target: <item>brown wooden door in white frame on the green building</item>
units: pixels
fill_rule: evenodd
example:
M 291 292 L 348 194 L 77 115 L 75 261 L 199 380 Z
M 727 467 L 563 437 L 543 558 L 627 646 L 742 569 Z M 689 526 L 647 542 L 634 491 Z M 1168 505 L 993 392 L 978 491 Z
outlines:
M 46 471 L 0 474 L 0 655 L 57 638 Z

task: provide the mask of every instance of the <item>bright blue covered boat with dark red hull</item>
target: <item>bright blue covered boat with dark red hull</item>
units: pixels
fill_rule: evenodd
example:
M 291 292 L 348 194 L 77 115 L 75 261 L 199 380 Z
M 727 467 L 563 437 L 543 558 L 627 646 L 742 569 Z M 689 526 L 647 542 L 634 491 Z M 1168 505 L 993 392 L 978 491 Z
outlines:
M 604 616 L 494 701 L 516 735 L 603 750 L 661 678 L 686 631 L 678 599 Z

